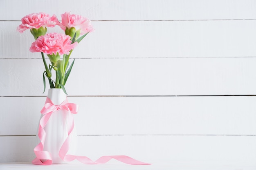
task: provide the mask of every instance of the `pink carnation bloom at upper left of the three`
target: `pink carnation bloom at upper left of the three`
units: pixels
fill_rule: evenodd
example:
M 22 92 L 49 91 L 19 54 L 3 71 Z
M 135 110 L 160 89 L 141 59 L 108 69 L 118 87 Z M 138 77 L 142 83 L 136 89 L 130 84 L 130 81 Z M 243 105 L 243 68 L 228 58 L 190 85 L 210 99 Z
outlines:
M 54 27 L 56 24 L 58 24 L 58 18 L 56 15 L 53 15 L 50 17 L 46 13 L 31 13 L 21 19 L 22 24 L 20 24 L 17 28 L 17 31 L 20 33 L 23 33 L 27 29 L 31 28 L 40 28 L 42 27 Z

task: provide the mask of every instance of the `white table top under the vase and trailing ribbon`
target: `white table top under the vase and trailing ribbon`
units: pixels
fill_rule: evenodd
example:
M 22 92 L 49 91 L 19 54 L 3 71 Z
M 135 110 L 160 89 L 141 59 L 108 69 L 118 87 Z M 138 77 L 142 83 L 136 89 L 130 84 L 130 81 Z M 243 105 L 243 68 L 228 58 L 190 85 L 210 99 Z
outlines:
M 152 165 L 127 165 L 110 161 L 102 165 L 85 165 L 79 162 L 54 164 L 51 166 L 33 165 L 31 163 L 0 163 L 0 170 L 256 170 L 255 163 L 248 165 L 236 162 L 195 162 L 195 161 L 170 161 L 153 163 Z

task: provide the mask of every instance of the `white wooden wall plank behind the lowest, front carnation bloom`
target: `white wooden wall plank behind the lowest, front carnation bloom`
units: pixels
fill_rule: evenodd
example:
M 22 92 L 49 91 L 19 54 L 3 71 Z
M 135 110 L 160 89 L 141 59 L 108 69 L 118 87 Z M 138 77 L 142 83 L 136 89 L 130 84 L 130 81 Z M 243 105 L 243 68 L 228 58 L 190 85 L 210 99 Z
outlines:
M 0 58 L 40 58 L 29 31 L 0 22 Z M 74 58 L 255 57 L 256 20 L 93 22 Z M 63 33 L 58 28 L 49 32 Z M 8 39 L 8 41 L 6 41 Z M 10 47 L 15 47 L 15 50 Z

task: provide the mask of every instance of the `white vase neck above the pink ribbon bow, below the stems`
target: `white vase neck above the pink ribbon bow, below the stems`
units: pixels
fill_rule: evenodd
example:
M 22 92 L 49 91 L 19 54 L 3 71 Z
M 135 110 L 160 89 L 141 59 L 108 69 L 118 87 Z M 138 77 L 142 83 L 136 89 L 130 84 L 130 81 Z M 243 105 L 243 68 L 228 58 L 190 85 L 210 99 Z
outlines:
M 61 105 L 61 103 L 67 98 L 67 95 L 62 89 L 49 89 L 47 97 L 52 100 L 54 105 Z

